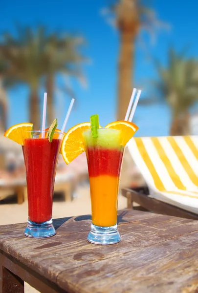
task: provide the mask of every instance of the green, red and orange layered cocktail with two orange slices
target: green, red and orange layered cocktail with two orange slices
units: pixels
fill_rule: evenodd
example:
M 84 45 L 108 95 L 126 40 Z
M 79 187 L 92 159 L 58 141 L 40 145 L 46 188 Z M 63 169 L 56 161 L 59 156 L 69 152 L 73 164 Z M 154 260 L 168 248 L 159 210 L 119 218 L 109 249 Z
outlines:
M 115 121 L 104 128 L 98 115 L 70 128 L 62 143 L 66 164 L 86 152 L 91 195 L 91 230 L 88 241 L 113 244 L 121 240 L 117 230 L 117 207 L 124 148 L 138 127 L 130 121 Z

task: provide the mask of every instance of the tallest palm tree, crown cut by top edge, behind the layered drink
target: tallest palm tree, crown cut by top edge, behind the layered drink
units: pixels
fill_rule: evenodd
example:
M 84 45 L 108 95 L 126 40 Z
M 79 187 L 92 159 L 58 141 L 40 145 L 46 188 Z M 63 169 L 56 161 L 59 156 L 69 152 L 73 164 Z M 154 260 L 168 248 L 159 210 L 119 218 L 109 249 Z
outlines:
M 120 33 L 118 65 L 117 119 L 125 117 L 132 93 L 135 40 L 141 28 L 152 32 L 159 24 L 152 9 L 144 6 L 142 0 L 116 0 L 109 9 L 113 22 Z M 147 0 L 147 2 L 149 2 Z M 112 20 L 111 20 L 112 22 Z

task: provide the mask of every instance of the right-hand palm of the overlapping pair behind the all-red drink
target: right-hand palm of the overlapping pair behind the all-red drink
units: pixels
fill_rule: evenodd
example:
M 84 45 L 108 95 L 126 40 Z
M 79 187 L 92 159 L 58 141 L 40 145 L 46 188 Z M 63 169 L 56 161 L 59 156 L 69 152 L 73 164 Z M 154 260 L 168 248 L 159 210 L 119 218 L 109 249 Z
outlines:
M 83 43 L 84 40 L 79 37 L 51 35 L 45 44 L 48 124 L 54 120 L 55 74 L 60 72 L 78 79 L 83 78 L 80 65 L 85 58 L 78 51 Z M 64 85 L 63 90 L 70 96 L 74 96 L 72 89 L 68 86 Z

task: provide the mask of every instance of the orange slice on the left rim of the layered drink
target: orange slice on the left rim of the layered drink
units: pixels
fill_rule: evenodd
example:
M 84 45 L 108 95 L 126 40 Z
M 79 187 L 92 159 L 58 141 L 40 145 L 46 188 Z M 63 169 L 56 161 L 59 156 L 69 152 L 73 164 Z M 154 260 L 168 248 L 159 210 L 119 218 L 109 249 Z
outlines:
M 85 151 L 83 131 L 89 128 L 91 128 L 90 122 L 84 122 L 71 127 L 66 132 L 61 145 L 61 153 L 67 165 Z

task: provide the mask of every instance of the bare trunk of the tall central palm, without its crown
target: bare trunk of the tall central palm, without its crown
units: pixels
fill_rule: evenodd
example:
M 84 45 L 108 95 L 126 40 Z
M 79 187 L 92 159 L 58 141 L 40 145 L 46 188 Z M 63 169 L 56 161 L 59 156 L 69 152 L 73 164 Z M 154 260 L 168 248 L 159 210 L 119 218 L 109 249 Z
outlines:
M 121 31 L 120 38 L 117 120 L 124 120 L 132 94 L 135 35 L 131 32 Z

